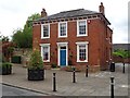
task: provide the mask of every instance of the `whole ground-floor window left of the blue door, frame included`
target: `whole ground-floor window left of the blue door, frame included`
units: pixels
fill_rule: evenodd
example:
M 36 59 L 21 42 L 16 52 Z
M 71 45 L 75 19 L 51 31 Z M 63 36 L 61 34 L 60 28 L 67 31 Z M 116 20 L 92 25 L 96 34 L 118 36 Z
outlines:
M 50 45 L 41 45 L 41 57 L 43 59 L 43 62 L 50 62 Z

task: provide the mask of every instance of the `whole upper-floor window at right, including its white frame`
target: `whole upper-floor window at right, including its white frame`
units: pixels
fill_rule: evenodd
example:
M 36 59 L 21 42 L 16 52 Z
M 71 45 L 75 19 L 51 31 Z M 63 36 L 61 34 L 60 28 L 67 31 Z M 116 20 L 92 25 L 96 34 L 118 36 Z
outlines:
M 87 21 L 77 21 L 77 36 L 87 36 Z

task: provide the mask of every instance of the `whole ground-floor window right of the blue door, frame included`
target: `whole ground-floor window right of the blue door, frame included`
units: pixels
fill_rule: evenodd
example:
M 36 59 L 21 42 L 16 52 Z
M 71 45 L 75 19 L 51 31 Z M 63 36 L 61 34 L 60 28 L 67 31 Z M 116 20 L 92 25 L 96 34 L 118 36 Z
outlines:
M 88 42 L 77 44 L 77 62 L 88 62 Z

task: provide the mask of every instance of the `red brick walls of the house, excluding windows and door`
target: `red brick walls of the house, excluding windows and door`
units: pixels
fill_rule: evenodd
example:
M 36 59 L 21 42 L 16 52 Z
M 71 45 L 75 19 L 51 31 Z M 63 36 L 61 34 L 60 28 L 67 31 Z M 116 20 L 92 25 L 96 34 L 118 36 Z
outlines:
M 106 36 L 112 36 L 112 30 L 107 29 L 107 25 L 100 19 L 90 20 L 88 23 L 88 36 L 87 37 L 77 37 L 77 22 L 69 21 L 67 22 L 67 38 L 57 38 L 58 34 L 58 24 L 51 23 L 50 27 L 50 39 L 41 39 L 41 28 L 40 25 L 34 26 L 32 36 L 32 48 L 40 49 L 39 44 L 50 44 L 51 46 L 51 61 L 44 63 L 50 65 L 53 62 L 57 62 L 57 45 L 56 42 L 68 42 L 68 54 L 73 53 L 72 59 L 74 65 L 101 65 L 101 70 L 107 69 L 107 59 L 109 60 L 109 42 L 106 41 Z M 106 35 L 107 34 L 107 35 Z M 88 63 L 78 63 L 77 61 L 77 41 L 89 41 L 89 62 Z M 106 47 L 108 50 L 106 51 Z M 106 52 L 108 53 L 106 57 Z

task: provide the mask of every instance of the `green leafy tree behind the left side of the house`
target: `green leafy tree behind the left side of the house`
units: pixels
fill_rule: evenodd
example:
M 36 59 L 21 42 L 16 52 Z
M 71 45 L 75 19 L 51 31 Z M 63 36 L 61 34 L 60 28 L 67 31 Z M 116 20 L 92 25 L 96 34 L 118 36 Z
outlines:
M 31 14 L 28 16 L 24 29 L 16 29 L 12 36 L 12 40 L 20 48 L 31 48 L 32 47 L 32 21 L 41 17 L 39 13 Z

